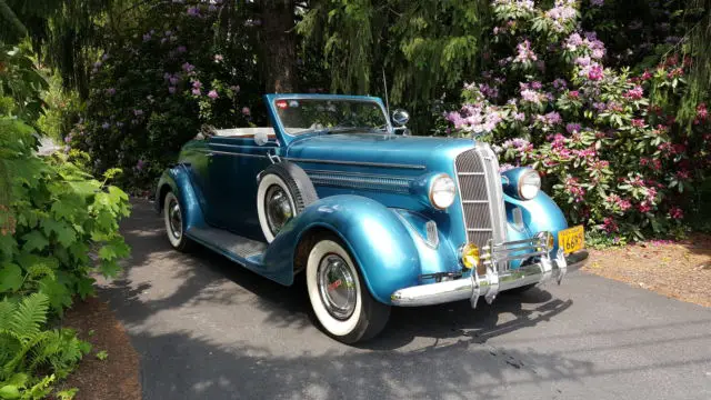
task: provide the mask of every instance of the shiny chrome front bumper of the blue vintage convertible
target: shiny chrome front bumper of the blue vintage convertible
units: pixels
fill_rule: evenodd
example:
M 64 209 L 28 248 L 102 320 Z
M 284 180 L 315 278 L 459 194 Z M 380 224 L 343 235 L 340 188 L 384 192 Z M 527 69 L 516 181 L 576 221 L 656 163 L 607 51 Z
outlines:
M 581 250 L 568 256 L 560 252 L 555 259 L 543 256 L 540 262 L 502 273 L 489 264 L 483 276 L 472 270 L 471 277 L 468 278 L 403 288 L 393 292 L 390 300 L 393 306 L 414 307 L 470 299 L 473 308 L 477 307 L 480 296 L 491 303 L 497 294 L 504 290 L 532 283 L 540 284 L 553 279 L 560 283 L 567 272 L 581 268 L 587 261 L 588 252 Z

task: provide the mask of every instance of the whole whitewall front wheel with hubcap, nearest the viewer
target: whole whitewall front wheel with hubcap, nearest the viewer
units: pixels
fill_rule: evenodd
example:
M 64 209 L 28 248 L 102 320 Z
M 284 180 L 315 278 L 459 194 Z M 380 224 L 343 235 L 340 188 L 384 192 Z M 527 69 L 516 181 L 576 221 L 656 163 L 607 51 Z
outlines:
M 311 307 L 323 329 L 343 343 L 370 339 L 385 327 L 390 306 L 378 302 L 334 236 L 316 241 L 306 269 Z

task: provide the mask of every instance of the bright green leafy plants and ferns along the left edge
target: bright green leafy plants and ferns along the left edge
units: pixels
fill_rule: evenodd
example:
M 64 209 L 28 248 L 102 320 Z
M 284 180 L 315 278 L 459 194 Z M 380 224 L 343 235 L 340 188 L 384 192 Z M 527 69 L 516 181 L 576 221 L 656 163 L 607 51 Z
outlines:
M 28 106 L 44 86 L 29 59 L 8 54 L 3 68 L 12 72 L 0 73 L 8 106 L 0 113 L 0 399 L 40 399 L 90 350 L 48 320 L 76 294 L 92 293 L 91 272 L 118 271 L 129 252 L 118 219 L 129 203 L 108 176 L 93 179 L 64 154 L 36 154 L 38 133 L 21 118 L 37 122 L 41 108 Z

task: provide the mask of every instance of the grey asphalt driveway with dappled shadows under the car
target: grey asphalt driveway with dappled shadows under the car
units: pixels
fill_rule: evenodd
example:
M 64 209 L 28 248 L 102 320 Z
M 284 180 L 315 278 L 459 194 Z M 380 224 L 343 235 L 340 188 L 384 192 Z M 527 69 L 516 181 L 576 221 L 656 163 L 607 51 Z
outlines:
M 171 250 L 152 204 L 102 283 L 141 354 L 144 399 L 711 399 L 711 310 L 575 272 L 563 286 L 394 309 L 358 348 L 284 288 L 201 249 Z

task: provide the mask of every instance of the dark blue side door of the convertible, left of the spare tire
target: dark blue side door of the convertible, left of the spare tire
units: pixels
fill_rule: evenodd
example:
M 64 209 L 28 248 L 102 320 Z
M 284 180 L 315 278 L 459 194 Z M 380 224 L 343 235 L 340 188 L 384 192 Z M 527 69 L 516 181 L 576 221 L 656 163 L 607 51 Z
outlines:
M 262 240 L 257 216 L 257 176 L 278 151 L 272 138 L 258 146 L 253 136 L 212 137 L 208 142 L 208 223 Z

